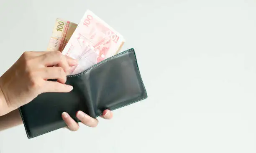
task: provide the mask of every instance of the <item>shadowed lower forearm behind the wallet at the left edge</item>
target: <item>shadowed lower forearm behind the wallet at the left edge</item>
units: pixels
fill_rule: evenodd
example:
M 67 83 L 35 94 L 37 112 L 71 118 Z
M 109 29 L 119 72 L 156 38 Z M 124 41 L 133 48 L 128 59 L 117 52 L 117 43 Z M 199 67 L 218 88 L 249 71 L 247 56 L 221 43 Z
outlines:
M 0 131 L 12 128 L 22 124 L 19 110 L 13 110 L 10 113 L 0 116 Z

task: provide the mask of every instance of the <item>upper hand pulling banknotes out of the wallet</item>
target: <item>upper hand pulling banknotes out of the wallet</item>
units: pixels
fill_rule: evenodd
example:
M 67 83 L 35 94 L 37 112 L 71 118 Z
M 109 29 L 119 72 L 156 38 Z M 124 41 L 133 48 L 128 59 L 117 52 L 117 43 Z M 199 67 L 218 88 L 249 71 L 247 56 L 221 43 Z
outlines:
M 2 109 L 1 113 L 15 110 L 44 92 L 70 92 L 73 87 L 64 84 L 67 80 L 66 72 L 76 64 L 76 60 L 61 52 L 23 53 L 0 77 L 0 89 L 5 97 L 2 102 L 5 103 L 5 110 Z M 58 81 L 47 81 L 54 78 Z

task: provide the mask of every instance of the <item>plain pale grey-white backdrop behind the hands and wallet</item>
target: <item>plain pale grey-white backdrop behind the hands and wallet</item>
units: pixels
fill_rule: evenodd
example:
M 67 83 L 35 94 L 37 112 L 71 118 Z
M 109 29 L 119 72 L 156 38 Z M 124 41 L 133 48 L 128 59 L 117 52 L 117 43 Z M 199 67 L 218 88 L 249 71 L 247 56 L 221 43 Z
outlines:
M 97 128 L 4 130 L 0 153 L 256 152 L 255 0 L 0 0 L 0 74 L 87 9 L 136 50 L 148 99 Z

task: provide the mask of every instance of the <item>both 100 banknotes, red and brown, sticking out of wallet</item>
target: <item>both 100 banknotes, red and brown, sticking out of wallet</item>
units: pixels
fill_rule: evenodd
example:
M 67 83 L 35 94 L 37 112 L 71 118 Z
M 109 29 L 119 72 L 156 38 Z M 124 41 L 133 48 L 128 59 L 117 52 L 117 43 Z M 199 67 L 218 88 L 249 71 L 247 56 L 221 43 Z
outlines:
M 71 74 L 78 74 L 117 54 L 123 43 L 120 33 L 87 10 L 78 25 L 57 18 L 47 50 L 77 59 L 79 64 L 72 67 Z

